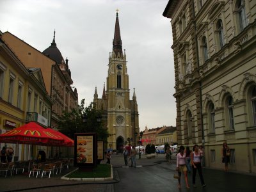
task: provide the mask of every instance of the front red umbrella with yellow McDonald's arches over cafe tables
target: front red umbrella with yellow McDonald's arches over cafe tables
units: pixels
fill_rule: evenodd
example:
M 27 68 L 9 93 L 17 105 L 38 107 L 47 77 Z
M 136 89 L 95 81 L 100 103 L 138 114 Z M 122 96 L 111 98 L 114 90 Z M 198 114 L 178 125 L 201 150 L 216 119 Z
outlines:
M 63 145 L 64 140 L 49 133 L 35 122 L 30 122 L 1 134 L 0 142 L 59 146 Z

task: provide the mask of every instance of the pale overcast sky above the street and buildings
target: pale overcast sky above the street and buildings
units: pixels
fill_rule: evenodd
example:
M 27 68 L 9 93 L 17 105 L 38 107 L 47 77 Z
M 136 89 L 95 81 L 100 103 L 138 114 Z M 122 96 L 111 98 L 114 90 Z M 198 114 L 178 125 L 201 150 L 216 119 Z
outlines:
M 108 76 L 116 8 L 127 56 L 130 99 L 135 88 L 140 130 L 175 126 L 176 104 L 168 0 L 1 0 L 0 30 L 9 31 L 39 51 L 56 44 L 79 94 L 79 102 L 99 97 Z

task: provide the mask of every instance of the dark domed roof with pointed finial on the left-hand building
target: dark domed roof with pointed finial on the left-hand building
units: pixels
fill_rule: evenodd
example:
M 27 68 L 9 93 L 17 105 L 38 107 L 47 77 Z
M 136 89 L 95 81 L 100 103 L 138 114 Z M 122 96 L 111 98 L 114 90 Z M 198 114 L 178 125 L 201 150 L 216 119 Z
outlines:
M 43 51 L 43 54 L 56 61 L 58 64 L 65 63 L 65 60 L 63 59 L 63 56 L 61 55 L 61 52 L 55 43 L 55 31 L 51 46 L 45 49 L 45 51 Z

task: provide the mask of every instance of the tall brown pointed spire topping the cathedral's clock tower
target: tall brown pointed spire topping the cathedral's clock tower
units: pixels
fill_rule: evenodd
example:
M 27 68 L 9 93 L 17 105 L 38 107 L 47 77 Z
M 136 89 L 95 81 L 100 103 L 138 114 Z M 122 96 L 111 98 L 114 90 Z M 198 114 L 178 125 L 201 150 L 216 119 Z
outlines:
M 115 25 L 115 34 L 113 39 L 113 52 L 115 52 L 116 57 L 118 53 L 122 56 L 122 40 L 120 35 L 120 27 L 119 27 L 119 20 L 118 20 L 118 9 L 116 10 L 116 25 Z

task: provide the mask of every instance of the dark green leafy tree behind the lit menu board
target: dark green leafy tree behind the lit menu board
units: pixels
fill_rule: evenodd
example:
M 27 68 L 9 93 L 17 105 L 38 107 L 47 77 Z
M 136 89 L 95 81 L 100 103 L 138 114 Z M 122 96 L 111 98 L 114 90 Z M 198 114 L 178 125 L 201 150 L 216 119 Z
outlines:
M 83 122 L 83 116 L 86 115 L 86 123 Z M 99 140 L 104 142 L 108 139 L 108 130 L 102 125 L 100 111 L 93 107 L 93 102 L 88 107 L 84 107 L 84 99 L 81 100 L 81 105 L 78 110 L 72 109 L 71 112 L 63 111 L 60 116 L 60 132 L 66 134 L 68 137 L 74 139 L 75 133 L 82 132 L 97 132 Z

